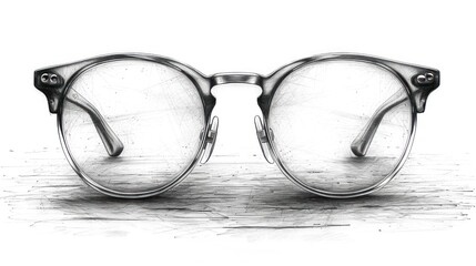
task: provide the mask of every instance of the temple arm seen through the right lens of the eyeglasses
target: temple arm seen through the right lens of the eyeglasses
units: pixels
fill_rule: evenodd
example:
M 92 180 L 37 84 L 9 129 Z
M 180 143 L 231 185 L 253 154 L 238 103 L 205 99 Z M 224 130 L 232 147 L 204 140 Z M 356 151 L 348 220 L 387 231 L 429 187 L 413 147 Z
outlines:
M 367 124 L 361 130 L 358 135 L 354 139 L 351 144 L 352 152 L 358 156 L 365 156 L 368 147 L 372 144 L 375 133 L 378 130 L 378 125 L 384 119 L 385 114 L 392 109 L 398 106 L 408 99 L 406 93 L 402 90 L 388 98 L 378 109 L 374 112 Z

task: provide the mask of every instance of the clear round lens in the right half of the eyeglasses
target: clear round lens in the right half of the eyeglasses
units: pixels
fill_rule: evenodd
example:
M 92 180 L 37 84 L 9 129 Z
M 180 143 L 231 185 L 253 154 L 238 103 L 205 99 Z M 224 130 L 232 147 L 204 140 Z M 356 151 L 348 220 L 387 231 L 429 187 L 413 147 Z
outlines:
M 351 144 L 392 99 L 365 156 Z M 362 61 L 327 60 L 286 76 L 271 103 L 267 126 L 281 166 L 308 188 L 355 193 L 389 177 L 409 145 L 413 111 L 405 85 Z

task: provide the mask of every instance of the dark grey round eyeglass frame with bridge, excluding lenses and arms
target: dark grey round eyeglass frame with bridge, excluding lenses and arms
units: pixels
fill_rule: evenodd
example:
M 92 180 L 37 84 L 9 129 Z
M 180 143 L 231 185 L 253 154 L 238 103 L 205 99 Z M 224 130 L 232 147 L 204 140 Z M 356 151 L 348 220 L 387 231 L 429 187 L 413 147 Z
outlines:
M 160 63 L 165 66 L 173 68 L 188 76 L 190 81 L 195 85 L 199 95 L 203 103 L 203 112 L 204 112 L 204 126 L 203 133 L 201 136 L 201 143 L 200 149 L 196 151 L 194 160 L 191 162 L 191 164 L 182 172 L 178 177 L 175 177 L 173 181 L 171 181 L 169 184 L 161 186 L 156 190 L 151 191 L 144 191 L 144 192 L 118 192 L 110 188 L 107 188 L 92 180 L 90 180 L 85 173 L 83 173 L 74 162 L 74 158 L 71 156 L 69 152 L 68 144 L 65 143 L 65 139 L 62 131 L 62 113 L 63 113 L 63 100 L 65 98 L 65 94 L 68 90 L 70 89 L 70 85 L 72 82 L 84 71 L 88 69 L 95 66 L 101 63 L 105 63 L 109 61 L 115 61 L 115 60 L 124 60 L 124 59 L 135 59 L 135 60 L 145 60 L 151 61 L 154 63 Z M 293 177 L 293 175 L 286 170 L 285 165 L 278 157 L 276 153 L 275 143 L 273 140 L 270 140 L 270 129 L 269 129 L 269 114 L 270 114 L 270 108 L 271 102 L 273 99 L 274 93 L 278 89 L 282 81 L 293 73 L 294 71 L 298 70 L 300 68 L 303 68 L 310 63 L 321 62 L 325 60 L 352 60 L 352 61 L 362 61 L 371 64 L 376 64 L 378 66 L 384 68 L 385 70 L 393 73 L 403 84 L 405 88 L 409 100 L 411 100 L 411 108 L 412 108 L 412 123 L 411 123 L 411 130 L 409 130 L 409 137 L 406 143 L 405 152 L 399 157 L 399 162 L 396 165 L 396 167 L 381 182 L 377 184 L 355 191 L 355 192 L 327 192 L 327 191 L 321 191 L 313 188 L 300 180 Z M 44 74 L 54 75 L 55 81 L 49 82 L 42 80 L 42 76 Z M 422 82 L 418 80 L 419 76 L 426 76 L 431 75 L 432 81 L 425 80 Z M 262 136 L 263 140 L 267 140 L 269 145 L 269 152 L 272 156 L 272 158 L 276 162 L 280 170 L 283 172 L 283 174 L 291 180 L 294 184 L 296 184 L 298 187 L 321 195 L 325 197 L 335 197 L 335 198 L 346 198 L 346 197 L 355 197 L 365 195 L 372 192 L 375 192 L 383 186 L 385 186 L 395 175 L 397 172 L 402 168 L 403 164 L 405 163 L 406 158 L 408 157 L 408 154 L 412 149 L 412 144 L 415 136 L 416 131 L 416 121 L 417 121 L 417 113 L 422 113 L 425 111 L 425 104 L 426 99 L 428 94 L 438 88 L 439 85 L 439 71 L 436 69 L 431 69 L 426 66 L 419 66 L 414 64 L 407 64 L 402 63 L 393 60 L 386 60 L 382 58 L 376 58 L 372 55 L 364 55 L 364 54 L 357 54 L 357 53 L 325 53 L 320 55 L 314 55 L 305 59 L 301 59 L 297 61 L 294 61 L 292 63 L 288 63 L 273 73 L 263 76 L 256 73 L 244 73 L 244 72 L 231 72 L 231 73 L 216 73 L 213 75 L 204 75 L 198 70 L 180 63 L 175 60 L 159 57 L 154 54 L 145 54 L 145 53 L 122 53 L 122 54 L 109 54 L 109 55 L 102 55 L 92 59 L 87 59 L 83 61 L 78 61 L 70 64 L 63 64 L 63 65 L 57 65 L 57 66 L 50 66 L 37 70 L 34 72 L 34 85 L 37 89 L 42 91 L 47 99 L 49 100 L 49 108 L 51 113 L 58 113 L 58 132 L 60 135 L 60 142 L 62 150 L 67 156 L 68 162 L 73 167 L 73 170 L 78 173 L 78 175 L 91 187 L 94 190 L 110 195 L 114 197 L 124 197 L 124 198 L 140 198 L 140 197 L 148 197 L 153 196 L 160 193 L 163 193 L 175 185 L 178 185 L 196 165 L 196 163 L 200 161 L 201 156 L 204 155 L 204 147 L 206 147 L 206 137 L 211 131 L 211 122 L 212 122 L 212 111 L 215 106 L 215 98 L 211 94 L 211 89 L 215 85 L 220 84 L 227 84 L 227 83 L 242 83 L 242 84 L 253 84 L 257 85 L 262 89 L 262 94 L 257 98 L 257 104 L 262 111 L 263 115 L 263 133 L 265 134 Z M 262 146 L 263 147 L 263 146 Z M 267 160 L 267 157 L 266 157 Z

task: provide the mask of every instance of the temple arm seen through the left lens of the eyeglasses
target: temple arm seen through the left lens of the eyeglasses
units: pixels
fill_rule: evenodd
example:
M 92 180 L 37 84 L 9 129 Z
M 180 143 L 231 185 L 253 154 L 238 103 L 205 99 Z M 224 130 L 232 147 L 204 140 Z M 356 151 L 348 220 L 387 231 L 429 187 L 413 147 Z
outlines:
M 98 109 L 95 109 L 92 103 L 85 100 L 73 89 L 70 89 L 65 100 L 84 110 L 84 112 L 89 114 L 108 154 L 113 157 L 121 155 L 122 151 L 124 150 L 124 144 L 122 144 L 121 140 L 105 122 L 105 119 L 101 115 Z

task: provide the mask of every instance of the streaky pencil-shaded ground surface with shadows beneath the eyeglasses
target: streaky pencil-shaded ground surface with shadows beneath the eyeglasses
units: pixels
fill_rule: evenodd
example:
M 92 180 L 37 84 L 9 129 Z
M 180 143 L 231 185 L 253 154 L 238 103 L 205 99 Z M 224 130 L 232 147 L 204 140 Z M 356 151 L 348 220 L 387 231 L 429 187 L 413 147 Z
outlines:
M 316 238 L 356 229 L 448 229 L 469 223 L 476 203 L 475 172 L 467 154 L 412 154 L 385 188 L 352 200 L 303 192 L 261 154 L 214 154 L 174 190 L 145 200 L 94 192 L 59 149 L 9 150 L 3 155 L 3 223 L 72 235 Z

